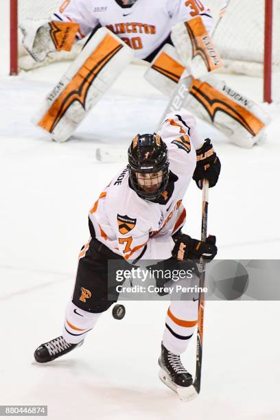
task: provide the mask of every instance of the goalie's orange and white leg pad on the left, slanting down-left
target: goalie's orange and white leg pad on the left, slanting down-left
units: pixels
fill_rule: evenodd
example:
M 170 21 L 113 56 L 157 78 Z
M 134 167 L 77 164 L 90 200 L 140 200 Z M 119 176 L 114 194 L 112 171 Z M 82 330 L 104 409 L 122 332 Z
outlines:
M 132 60 L 133 52 L 105 27 L 100 28 L 71 64 L 32 121 L 66 141 Z

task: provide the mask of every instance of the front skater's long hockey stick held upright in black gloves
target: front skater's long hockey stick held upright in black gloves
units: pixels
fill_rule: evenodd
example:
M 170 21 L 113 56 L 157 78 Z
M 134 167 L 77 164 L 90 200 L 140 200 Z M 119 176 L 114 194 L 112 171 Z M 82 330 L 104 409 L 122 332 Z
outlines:
M 202 188 L 202 222 L 201 222 L 201 240 L 205 242 L 207 238 L 207 215 L 208 215 L 208 180 L 203 180 Z M 202 290 L 205 287 L 205 260 L 200 258 L 200 279 L 199 287 Z M 202 367 L 202 342 L 203 342 L 203 319 L 204 319 L 204 305 L 205 305 L 205 294 L 204 292 L 199 293 L 198 298 L 198 332 L 196 342 L 196 379 L 194 380 L 194 389 L 196 393 L 200 393 L 200 381 L 201 381 L 201 367 Z

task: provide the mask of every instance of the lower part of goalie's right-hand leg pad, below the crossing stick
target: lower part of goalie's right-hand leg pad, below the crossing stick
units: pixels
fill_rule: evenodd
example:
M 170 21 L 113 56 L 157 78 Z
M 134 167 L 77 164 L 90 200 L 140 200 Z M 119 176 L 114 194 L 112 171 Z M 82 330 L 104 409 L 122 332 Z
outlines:
M 191 81 L 184 106 L 244 148 L 251 148 L 266 137 L 268 113 L 214 75 Z

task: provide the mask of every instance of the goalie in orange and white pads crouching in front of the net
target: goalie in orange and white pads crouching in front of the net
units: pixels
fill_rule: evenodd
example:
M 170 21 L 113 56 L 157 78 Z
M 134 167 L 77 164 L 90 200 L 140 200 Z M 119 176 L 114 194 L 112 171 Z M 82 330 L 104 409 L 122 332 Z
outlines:
M 69 51 L 75 40 L 89 35 L 34 123 L 54 140 L 66 141 L 136 57 L 151 63 L 145 78 L 157 89 L 172 97 L 183 81 L 180 106 L 211 122 L 233 143 L 251 147 L 264 138 L 269 118 L 213 75 L 223 67 L 209 35 L 213 28 L 202 0 L 104 0 L 102 5 L 65 0 L 49 21 L 23 21 L 23 45 L 36 61 Z

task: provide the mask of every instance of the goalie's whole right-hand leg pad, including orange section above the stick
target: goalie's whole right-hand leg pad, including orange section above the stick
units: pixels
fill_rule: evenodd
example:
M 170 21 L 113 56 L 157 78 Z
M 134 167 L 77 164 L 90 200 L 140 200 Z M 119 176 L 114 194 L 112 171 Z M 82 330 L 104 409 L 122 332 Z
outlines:
M 171 97 L 165 114 L 187 108 L 244 148 L 264 141 L 265 128 L 270 123 L 268 113 L 212 73 L 200 80 L 192 78 L 172 45 L 165 45 L 159 51 L 145 78 Z

